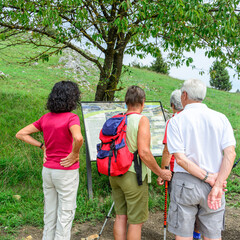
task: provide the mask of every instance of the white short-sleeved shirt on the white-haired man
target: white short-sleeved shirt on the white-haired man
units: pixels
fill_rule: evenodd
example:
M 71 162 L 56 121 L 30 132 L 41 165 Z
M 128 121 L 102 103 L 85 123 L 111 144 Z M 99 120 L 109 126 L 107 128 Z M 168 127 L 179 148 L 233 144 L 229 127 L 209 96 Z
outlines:
M 167 129 L 167 146 L 171 154 L 184 153 L 189 160 L 210 172 L 219 172 L 223 150 L 235 146 L 232 126 L 227 117 L 203 103 L 185 106 L 171 118 Z M 176 162 L 174 172 L 187 172 Z

